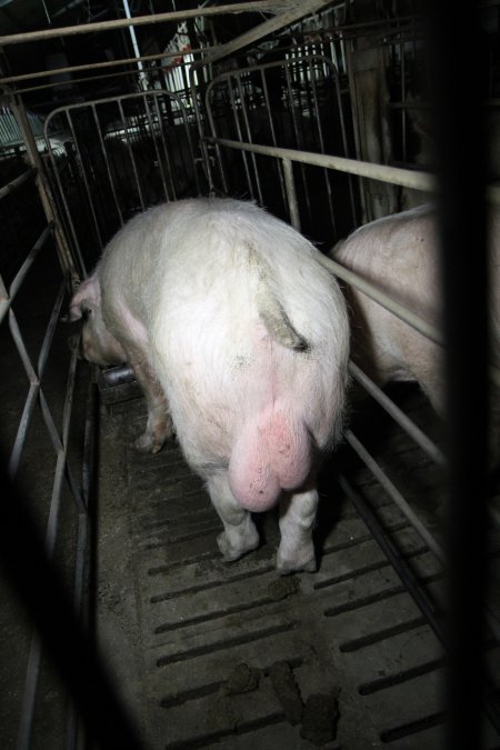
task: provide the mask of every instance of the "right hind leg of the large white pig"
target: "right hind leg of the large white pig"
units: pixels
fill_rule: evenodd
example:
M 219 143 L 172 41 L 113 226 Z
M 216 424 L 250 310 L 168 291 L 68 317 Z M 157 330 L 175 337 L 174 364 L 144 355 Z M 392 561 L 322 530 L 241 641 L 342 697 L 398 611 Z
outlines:
M 276 566 L 281 574 L 316 570 L 312 527 L 318 508 L 318 492 L 310 489 L 282 498 L 280 502 L 281 541 Z

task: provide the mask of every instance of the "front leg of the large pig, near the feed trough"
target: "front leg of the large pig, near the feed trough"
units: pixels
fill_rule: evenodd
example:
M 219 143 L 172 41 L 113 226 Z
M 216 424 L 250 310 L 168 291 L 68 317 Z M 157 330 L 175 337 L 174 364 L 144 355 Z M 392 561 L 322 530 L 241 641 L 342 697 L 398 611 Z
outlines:
M 129 357 L 129 361 L 144 392 L 148 406 L 146 430 L 136 440 L 134 446 L 142 453 L 158 453 L 166 440 L 172 434 L 169 402 L 150 366 L 133 354 Z

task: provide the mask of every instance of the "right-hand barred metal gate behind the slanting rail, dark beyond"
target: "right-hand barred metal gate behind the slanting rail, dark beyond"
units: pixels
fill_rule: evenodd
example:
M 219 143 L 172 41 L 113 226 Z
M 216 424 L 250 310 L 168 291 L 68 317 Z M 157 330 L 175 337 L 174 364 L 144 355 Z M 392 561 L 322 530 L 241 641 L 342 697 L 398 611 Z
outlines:
M 216 139 L 354 156 L 346 77 L 342 84 L 324 56 L 304 54 L 299 48 L 286 60 L 221 73 L 208 84 L 204 98 Z M 223 193 L 248 196 L 278 216 L 288 214 L 287 176 L 279 162 L 226 150 L 217 141 L 214 149 L 214 182 Z M 303 163 L 294 169 L 307 233 L 331 243 L 357 224 L 359 196 L 353 178 Z

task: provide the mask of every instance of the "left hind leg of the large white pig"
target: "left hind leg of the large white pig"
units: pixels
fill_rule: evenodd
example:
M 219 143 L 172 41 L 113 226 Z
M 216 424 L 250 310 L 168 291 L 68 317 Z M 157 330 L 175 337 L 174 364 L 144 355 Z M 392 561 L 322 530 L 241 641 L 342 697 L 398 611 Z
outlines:
M 229 489 L 228 472 L 220 471 L 207 482 L 210 499 L 224 524 L 217 543 L 227 562 L 238 560 L 259 546 L 259 534 L 251 514 L 236 500 Z

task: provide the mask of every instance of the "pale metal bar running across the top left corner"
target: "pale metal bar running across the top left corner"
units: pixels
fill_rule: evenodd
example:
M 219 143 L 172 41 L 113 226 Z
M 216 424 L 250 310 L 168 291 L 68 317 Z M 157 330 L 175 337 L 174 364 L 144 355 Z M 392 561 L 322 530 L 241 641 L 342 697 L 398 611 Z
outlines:
M 322 2 L 303 3 L 306 6 L 322 6 L 331 0 Z M 282 3 L 277 0 L 260 0 L 256 2 L 236 2 L 229 6 L 209 6 L 206 8 L 194 8 L 190 10 L 173 11 L 169 13 L 156 13 L 154 16 L 137 16 L 133 19 L 118 19 L 113 21 L 99 21 L 98 23 L 82 23 L 78 26 L 66 26 L 56 29 L 43 29 L 41 31 L 26 31 L 23 33 L 8 34 L 0 37 L 0 47 L 8 44 L 20 44 L 23 42 L 33 42 L 60 37 L 73 37 L 80 33 L 96 33 L 98 31 L 110 31 L 112 29 L 127 29 L 130 26 L 147 26 L 162 23 L 164 21 L 183 21 L 187 18 L 203 18 L 209 16 L 223 16 L 224 13 L 244 13 L 244 12 L 274 12 Z M 307 10 L 307 9 L 306 9 Z M 311 12 L 316 8 L 311 8 Z M 302 10 L 299 13 L 302 14 Z M 279 28 L 279 27 L 278 27 Z M 270 32 L 269 32 L 270 33 Z

